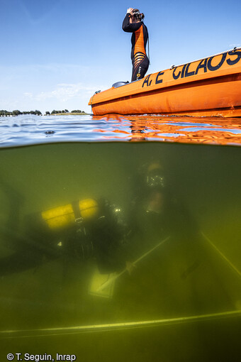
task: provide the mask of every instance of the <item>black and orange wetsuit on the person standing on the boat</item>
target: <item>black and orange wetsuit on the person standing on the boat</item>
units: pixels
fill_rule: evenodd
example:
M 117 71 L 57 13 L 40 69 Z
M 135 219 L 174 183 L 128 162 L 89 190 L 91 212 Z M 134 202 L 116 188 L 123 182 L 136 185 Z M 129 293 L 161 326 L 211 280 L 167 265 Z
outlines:
M 139 23 L 130 23 L 130 13 L 125 15 L 122 28 L 127 33 L 133 33 L 131 37 L 131 60 L 133 62 L 133 75 L 131 81 L 142 79 L 149 67 L 149 59 L 145 52 L 147 45 L 148 31 L 145 24 L 140 21 Z

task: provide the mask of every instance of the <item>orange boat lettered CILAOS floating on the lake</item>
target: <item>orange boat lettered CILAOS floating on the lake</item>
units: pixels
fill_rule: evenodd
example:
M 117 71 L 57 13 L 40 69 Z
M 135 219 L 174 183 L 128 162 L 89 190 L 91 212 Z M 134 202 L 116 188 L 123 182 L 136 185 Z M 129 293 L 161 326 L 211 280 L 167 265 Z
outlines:
M 241 116 L 241 48 L 118 82 L 90 99 L 94 115 Z

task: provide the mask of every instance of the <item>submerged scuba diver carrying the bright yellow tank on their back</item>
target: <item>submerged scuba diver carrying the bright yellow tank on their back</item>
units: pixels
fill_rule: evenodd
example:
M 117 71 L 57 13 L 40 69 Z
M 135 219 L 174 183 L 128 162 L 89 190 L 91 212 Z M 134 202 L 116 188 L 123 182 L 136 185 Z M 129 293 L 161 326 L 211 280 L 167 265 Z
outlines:
M 1 181 L 9 199 L 9 217 L 1 235 L 13 253 L 0 259 L 0 276 L 38 267 L 62 258 L 96 260 L 99 273 L 125 268 L 125 222 L 121 210 L 106 199 L 81 199 L 44 212 L 30 214 L 20 224 L 22 198 Z

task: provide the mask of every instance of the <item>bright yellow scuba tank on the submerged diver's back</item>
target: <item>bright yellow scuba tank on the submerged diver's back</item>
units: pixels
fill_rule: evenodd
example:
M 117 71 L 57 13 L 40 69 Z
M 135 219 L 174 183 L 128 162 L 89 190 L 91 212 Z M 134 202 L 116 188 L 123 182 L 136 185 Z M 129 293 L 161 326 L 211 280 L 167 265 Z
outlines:
M 99 205 L 95 199 L 83 199 L 77 203 L 67 204 L 41 213 L 50 229 L 71 226 L 78 219 L 94 219 L 99 213 Z

